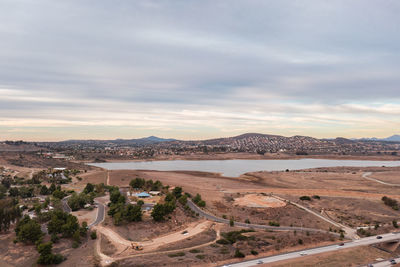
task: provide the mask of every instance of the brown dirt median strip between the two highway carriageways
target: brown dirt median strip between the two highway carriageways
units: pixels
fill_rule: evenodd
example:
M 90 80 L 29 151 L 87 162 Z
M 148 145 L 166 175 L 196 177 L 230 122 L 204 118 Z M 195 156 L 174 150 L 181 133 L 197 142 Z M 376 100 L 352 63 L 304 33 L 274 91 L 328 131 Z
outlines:
M 277 263 L 262 264 L 265 267 L 336 267 L 360 266 L 374 262 L 377 258 L 390 258 L 391 255 L 373 247 L 359 247 L 328 252 L 314 256 L 305 256 L 301 259 L 281 261 Z

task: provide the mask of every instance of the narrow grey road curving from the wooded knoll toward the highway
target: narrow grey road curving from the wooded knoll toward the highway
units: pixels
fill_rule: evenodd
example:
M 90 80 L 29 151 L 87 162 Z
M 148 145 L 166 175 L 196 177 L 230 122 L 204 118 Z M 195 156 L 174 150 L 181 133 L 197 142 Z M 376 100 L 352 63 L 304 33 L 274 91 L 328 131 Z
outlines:
M 218 222 L 218 223 L 225 223 L 229 224 L 229 220 L 223 219 L 216 217 L 212 214 L 209 214 L 202 209 L 200 209 L 196 204 L 194 204 L 191 200 L 188 200 L 187 202 L 189 208 L 193 210 L 194 212 L 198 213 L 201 217 L 204 217 L 210 221 Z M 326 230 L 321 230 L 321 229 L 314 229 L 314 228 L 305 228 L 305 227 L 289 227 L 289 226 L 269 226 L 269 225 L 260 225 L 260 224 L 249 224 L 249 223 L 241 223 L 241 222 L 235 222 L 235 226 L 239 227 L 245 227 L 245 228 L 253 228 L 253 229 L 268 229 L 268 230 L 274 230 L 274 231 L 308 231 L 308 232 L 321 232 L 321 233 L 326 233 Z M 333 235 L 339 235 L 336 233 L 331 233 Z

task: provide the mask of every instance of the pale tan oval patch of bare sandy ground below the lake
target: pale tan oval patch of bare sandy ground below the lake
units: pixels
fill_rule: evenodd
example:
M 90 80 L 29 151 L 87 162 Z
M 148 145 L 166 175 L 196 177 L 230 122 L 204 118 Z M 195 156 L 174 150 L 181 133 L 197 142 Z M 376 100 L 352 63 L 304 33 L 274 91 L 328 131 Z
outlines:
M 236 198 L 234 205 L 251 208 L 278 208 L 286 206 L 286 203 L 276 198 L 263 196 L 261 194 L 248 194 Z

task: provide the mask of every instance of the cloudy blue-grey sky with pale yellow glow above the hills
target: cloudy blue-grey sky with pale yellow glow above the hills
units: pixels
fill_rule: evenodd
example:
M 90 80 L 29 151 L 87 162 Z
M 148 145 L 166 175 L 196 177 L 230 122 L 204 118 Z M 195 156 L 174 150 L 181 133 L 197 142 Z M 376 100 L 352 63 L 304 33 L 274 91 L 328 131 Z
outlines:
M 400 129 L 398 0 L 0 0 L 0 140 Z

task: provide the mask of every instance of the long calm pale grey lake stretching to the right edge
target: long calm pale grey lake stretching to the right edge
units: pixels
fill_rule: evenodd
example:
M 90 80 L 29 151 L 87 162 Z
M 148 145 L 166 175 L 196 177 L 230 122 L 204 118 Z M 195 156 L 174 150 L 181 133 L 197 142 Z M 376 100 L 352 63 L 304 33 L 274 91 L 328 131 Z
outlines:
M 396 167 L 400 161 L 288 159 L 288 160 L 170 160 L 89 163 L 107 170 L 156 170 L 216 172 L 238 177 L 246 172 L 301 170 L 321 167 Z

